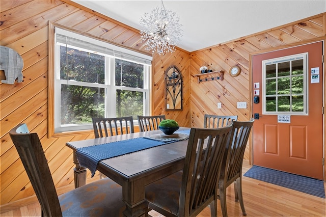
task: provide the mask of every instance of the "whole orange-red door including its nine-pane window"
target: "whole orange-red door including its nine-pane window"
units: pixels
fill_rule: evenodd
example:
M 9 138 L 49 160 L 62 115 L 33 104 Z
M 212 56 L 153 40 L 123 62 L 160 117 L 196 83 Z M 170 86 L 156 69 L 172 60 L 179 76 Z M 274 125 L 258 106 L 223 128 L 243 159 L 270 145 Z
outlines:
M 254 165 L 323 179 L 322 55 L 315 42 L 252 57 Z

